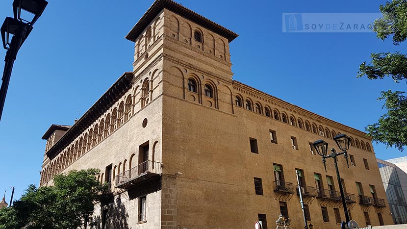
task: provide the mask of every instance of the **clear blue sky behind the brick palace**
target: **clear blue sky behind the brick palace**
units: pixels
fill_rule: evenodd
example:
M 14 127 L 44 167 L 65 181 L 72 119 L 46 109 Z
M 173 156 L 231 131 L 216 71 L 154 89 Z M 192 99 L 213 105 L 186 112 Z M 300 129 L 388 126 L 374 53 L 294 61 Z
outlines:
M 373 13 L 384 0 L 178 2 L 239 34 L 230 43 L 234 79 L 339 123 L 364 130 L 384 113 L 380 91 L 406 90 L 406 82 L 390 78 L 356 78 L 371 52 L 406 53 L 406 44 L 393 46 L 374 33 L 282 32 L 285 12 Z M 7 189 L 7 202 L 10 186 L 18 199 L 28 184 L 39 183 L 48 127 L 72 125 L 132 71 L 134 44 L 124 36 L 152 3 L 50 0 L 18 53 L 0 122 L 0 193 Z M 0 20 L 13 15 L 11 4 L 0 1 Z M 406 155 L 373 146 L 382 159 Z

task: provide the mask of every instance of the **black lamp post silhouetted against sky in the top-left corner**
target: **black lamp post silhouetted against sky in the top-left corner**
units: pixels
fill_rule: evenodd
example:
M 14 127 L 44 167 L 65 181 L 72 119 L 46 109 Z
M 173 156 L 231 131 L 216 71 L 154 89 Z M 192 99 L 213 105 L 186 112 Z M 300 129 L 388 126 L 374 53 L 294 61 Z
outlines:
M 3 76 L 1 78 L 0 88 L 0 120 L 3 113 L 4 102 L 6 99 L 8 84 L 10 83 L 11 71 L 14 61 L 17 58 L 17 52 L 20 50 L 28 34 L 32 30 L 32 25 L 38 20 L 48 2 L 45 0 L 14 0 L 13 12 L 14 18 L 6 17 L 1 25 L 1 41 L 3 48 L 7 50 L 4 58 L 5 65 Z M 33 15 L 32 19 L 23 19 L 21 10 L 25 10 Z M 10 36 L 11 35 L 11 36 Z M 11 40 L 10 40 L 11 37 Z

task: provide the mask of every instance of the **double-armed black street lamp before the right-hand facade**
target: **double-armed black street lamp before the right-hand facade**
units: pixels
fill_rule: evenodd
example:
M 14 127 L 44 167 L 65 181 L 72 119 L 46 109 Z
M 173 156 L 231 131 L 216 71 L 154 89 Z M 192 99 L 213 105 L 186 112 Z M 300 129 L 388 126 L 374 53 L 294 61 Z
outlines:
M 350 144 L 351 138 L 346 136 L 346 134 L 338 134 L 335 137 L 333 137 L 333 140 L 335 140 L 336 145 L 338 145 L 339 149 L 342 152 L 336 153 L 335 149 L 332 148 L 331 154 L 328 154 L 328 143 L 325 142 L 324 140 L 315 141 L 312 145 L 314 146 L 318 155 L 320 155 L 322 157 L 322 162 L 324 163 L 325 172 L 327 172 L 327 166 L 325 164 L 325 159 L 329 158 L 329 157 L 333 158 L 333 161 L 335 164 L 335 169 L 336 169 L 336 176 L 338 178 L 339 190 L 341 193 L 342 205 L 343 205 L 343 209 L 345 211 L 345 218 L 346 218 L 346 221 L 343 221 L 341 223 L 341 229 L 355 229 L 355 228 L 358 229 L 359 227 L 357 226 L 356 221 L 351 220 L 349 217 L 348 207 L 346 205 L 345 193 L 343 192 L 341 177 L 339 175 L 339 170 L 338 170 L 338 163 L 336 160 L 337 156 L 344 154 L 345 159 L 346 159 L 346 164 L 348 165 L 348 168 L 349 168 L 347 151 L 349 150 L 349 144 Z

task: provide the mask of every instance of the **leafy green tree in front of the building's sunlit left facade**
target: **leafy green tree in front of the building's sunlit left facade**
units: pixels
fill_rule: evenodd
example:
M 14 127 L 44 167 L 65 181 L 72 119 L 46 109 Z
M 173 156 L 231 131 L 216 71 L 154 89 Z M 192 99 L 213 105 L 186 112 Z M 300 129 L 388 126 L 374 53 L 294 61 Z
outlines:
M 80 227 L 107 188 L 96 179 L 98 174 L 97 169 L 72 170 L 56 175 L 53 186 L 29 185 L 12 207 L 0 210 L 0 229 Z

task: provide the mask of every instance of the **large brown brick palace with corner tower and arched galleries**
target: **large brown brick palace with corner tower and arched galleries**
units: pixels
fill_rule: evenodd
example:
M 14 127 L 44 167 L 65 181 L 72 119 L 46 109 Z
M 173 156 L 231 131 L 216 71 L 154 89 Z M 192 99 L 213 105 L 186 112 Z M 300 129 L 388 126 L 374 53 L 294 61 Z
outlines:
M 101 229 L 275 227 L 280 214 L 304 227 L 345 219 L 333 161 L 325 172 L 311 143 L 345 133 L 350 168 L 339 171 L 351 218 L 392 224 L 371 139 L 304 108 L 232 80 L 237 34 L 173 0 L 155 0 L 127 34 L 125 72 L 73 126 L 51 125 L 40 185 L 70 170 L 99 168 L 111 184 L 95 207 Z

